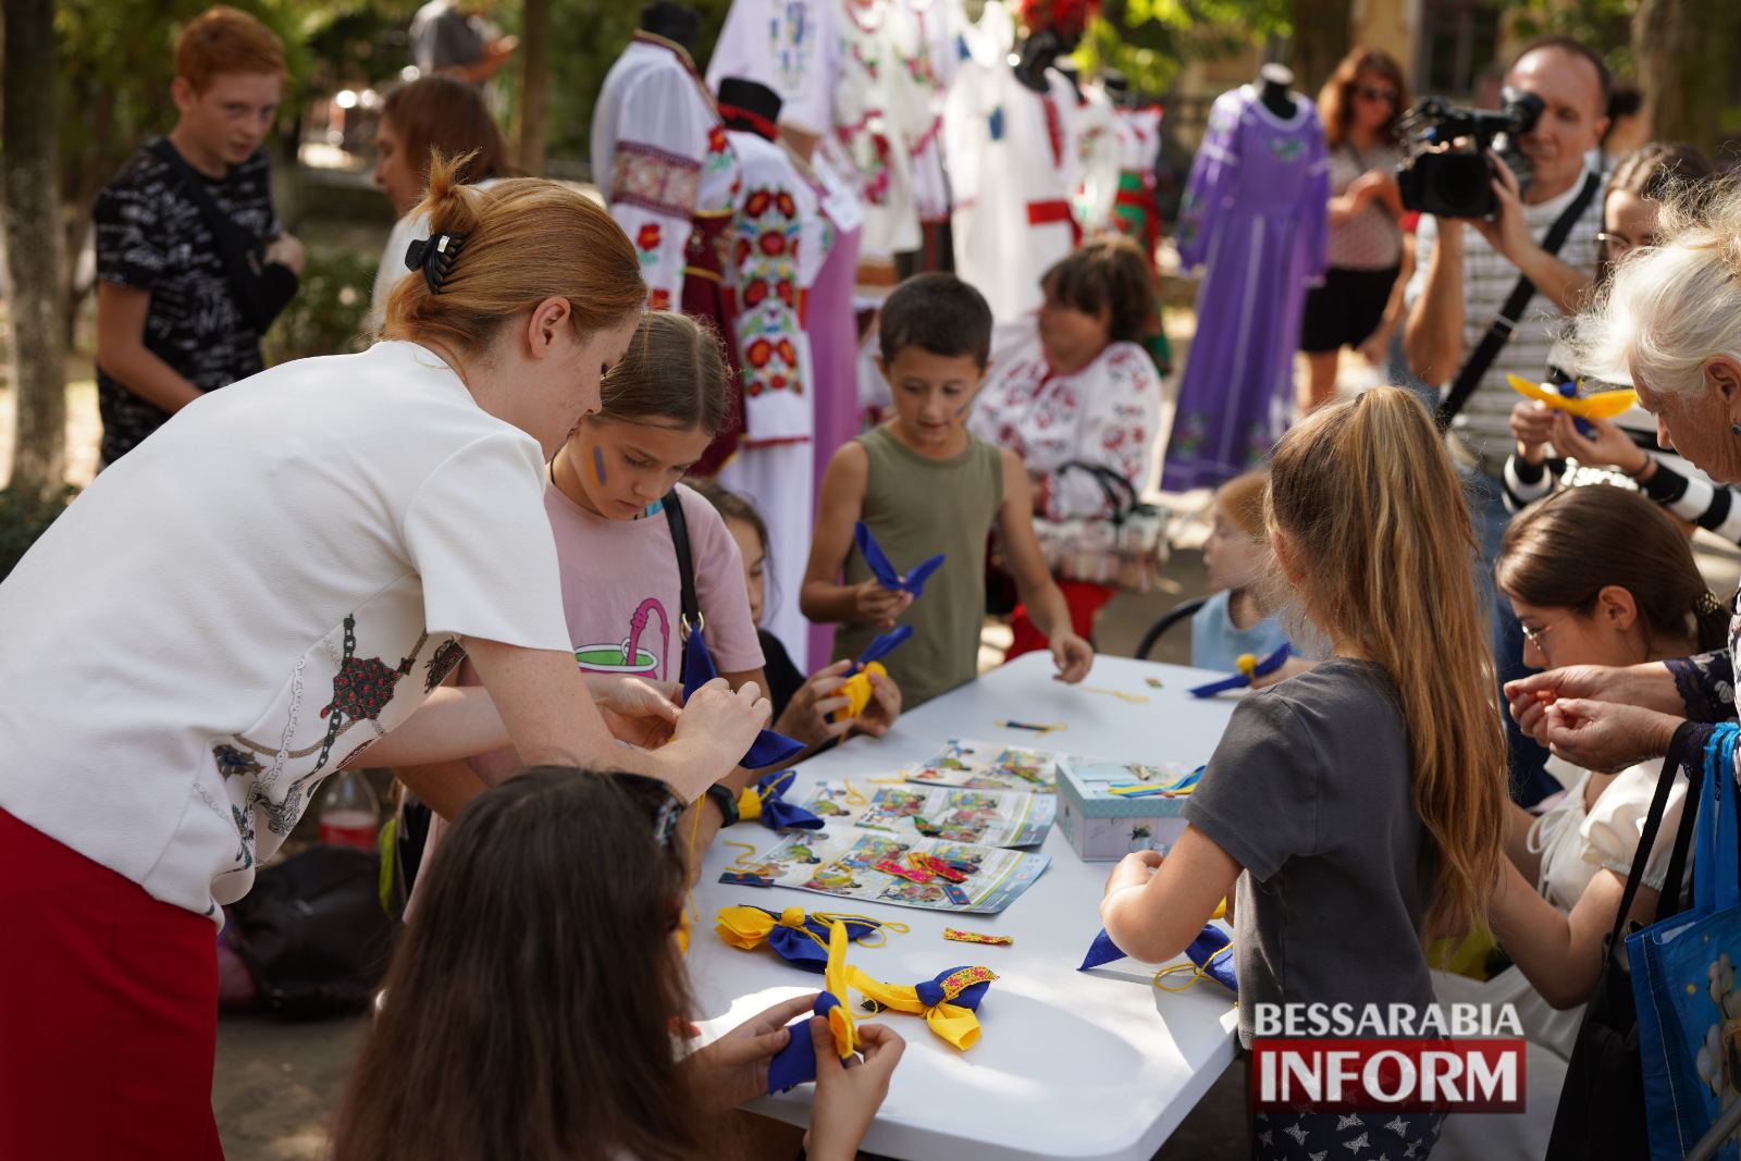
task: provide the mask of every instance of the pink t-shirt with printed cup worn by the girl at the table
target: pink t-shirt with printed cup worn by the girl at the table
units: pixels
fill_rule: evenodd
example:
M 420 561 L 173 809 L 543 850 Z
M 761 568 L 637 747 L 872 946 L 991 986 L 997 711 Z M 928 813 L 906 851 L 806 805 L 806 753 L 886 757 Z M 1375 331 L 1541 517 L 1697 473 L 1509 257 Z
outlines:
M 707 623 L 707 648 L 721 674 L 761 668 L 763 653 L 750 620 L 743 559 L 726 522 L 698 493 L 677 486 L 695 560 L 695 597 Z M 562 611 L 575 660 L 583 670 L 679 681 L 682 581 L 670 524 L 663 512 L 637 520 L 609 520 L 587 512 L 555 486 L 545 487 L 545 513 L 562 566 Z M 635 632 L 634 623 L 642 627 Z M 625 644 L 635 637 L 625 663 Z M 479 684 L 470 661 L 460 684 Z M 496 783 L 514 773 L 512 748 L 472 759 L 472 769 Z

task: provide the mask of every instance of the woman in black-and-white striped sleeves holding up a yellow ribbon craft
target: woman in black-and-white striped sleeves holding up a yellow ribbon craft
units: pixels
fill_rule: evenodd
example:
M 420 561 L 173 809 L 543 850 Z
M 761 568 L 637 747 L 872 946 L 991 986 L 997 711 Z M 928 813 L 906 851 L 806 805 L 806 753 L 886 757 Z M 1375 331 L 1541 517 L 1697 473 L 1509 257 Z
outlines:
M 1711 172 L 1710 160 L 1680 141 L 1652 141 L 1623 157 L 1602 197 L 1598 285 L 1605 285 L 1630 254 L 1656 245 L 1663 200 Z M 1563 366 L 1565 360 L 1556 362 Z M 1511 433 L 1518 447 L 1504 479 L 1506 505 L 1513 512 L 1556 486 L 1621 484 L 1644 491 L 1689 531 L 1697 524 L 1741 543 L 1741 496 L 1734 487 L 1711 484 L 1673 451 L 1657 449 L 1656 418 L 1644 407 L 1612 423 L 1588 419 L 1579 425 L 1562 411 L 1525 399 L 1511 409 Z

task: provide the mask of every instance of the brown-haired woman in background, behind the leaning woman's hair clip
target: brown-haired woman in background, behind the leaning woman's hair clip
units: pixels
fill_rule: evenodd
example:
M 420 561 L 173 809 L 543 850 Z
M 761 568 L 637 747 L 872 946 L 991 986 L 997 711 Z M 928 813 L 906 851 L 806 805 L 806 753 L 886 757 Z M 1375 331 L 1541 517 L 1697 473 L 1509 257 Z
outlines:
M 374 272 L 366 331 L 380 329 L 387 294 L 406 275 L 406 247 L 430 235 L 428 218 L 411 211 L 423 198 L 434 153 L 460 158 L 458 179 L 479 188 L 521 176 L 477 85 L 432 75 L 388 89 L 374 125 L 371 179 L 393 204 L 399 221 L 387 235 L 387 249 Z

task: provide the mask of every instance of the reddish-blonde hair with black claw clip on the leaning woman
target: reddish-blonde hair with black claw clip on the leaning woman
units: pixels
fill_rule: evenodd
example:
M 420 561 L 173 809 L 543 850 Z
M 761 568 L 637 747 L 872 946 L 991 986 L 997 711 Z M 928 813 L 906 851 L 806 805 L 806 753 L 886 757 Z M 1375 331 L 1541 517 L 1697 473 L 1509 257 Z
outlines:
M 428 218 L 432 237 L 463 233 L 465 244 L 440 294 L 430 291 L 421 272 L 393 285 L 383 339 L 474 355 L 503 320 L 547 298 L 568 299 L 581 336 L 641 310 L 648 292 L 641 261 L 604 209 L 541 178 L 510 178 L 487 190 L 461 185 L 470 158 L 430 151 L 428 193 L 411 212 Z

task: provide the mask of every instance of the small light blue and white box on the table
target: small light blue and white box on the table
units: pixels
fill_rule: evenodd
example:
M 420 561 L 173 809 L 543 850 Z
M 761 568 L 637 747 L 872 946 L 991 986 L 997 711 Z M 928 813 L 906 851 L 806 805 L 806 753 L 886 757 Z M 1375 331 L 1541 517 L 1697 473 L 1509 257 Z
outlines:
M 1172 766 L 1060 757 L 1057 825 L 1088 863 L 1116 862 L 1132 851 L 1165 855 L 1186 830 L 1180 818 L 1186 797 L 1126 797 L 1111 794 L 1109 787 L 1132 782 L 1165 787 L 1187 773 Z

